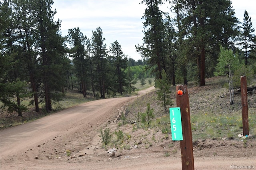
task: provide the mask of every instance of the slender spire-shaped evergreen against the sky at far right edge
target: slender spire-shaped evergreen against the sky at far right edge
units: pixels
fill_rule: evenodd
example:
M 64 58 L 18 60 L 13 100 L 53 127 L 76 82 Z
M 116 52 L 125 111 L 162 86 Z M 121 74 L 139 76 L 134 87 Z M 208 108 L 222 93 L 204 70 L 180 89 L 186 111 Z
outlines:
M 244 63 L 247 65 L 249 58 L 249 50 L 254 49 L 256 46 L 256 36 L 255 29 L 252 27 L 252 17 L 249 17 L 248 12 L 244 11 L 244 22 L 242 22 L 242 34 L 241 34 L 241 43 L 243 49 L 245 49 L 244 53 Z

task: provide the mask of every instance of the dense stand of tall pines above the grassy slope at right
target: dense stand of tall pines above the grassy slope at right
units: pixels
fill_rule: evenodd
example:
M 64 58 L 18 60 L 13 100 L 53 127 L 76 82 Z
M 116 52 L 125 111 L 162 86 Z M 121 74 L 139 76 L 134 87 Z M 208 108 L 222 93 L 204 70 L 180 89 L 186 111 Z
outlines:
M 213 76 L 220 46 L 238 53 L 241 63 L 250 65 L 255 74 L 255 30 L 247 11 L 241 23 L 229 0 L 169 0 L 168 14 L 159 9 L 162 0 L 142 3 L 147 6 L 144 43 L 136 49 L 148 58 L 149 67 L 157 66 L 157 78 L 164 70 L 172 85 L 179 78 L 184 84 L 195 80 L 204 86 L 205 77 Z

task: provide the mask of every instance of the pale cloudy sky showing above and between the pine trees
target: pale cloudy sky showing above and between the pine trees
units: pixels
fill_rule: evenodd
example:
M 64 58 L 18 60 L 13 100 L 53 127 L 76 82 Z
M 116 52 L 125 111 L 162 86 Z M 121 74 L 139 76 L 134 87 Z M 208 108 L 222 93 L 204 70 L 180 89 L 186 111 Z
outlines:
M 62 36 L 68 35 L 68 29 L 79 27 L 87 38 L 92 38 L 96 28 L 102 29 L 104 43 L 109 49 L 111 43 L 118 41 L 122 51 L 134 60 L 142 59 L 135 45 L 143 43 L 142 16 L 146 5 L 141 0 L 54 0 L 52 9 L 56 9 L 55 20 L 60 19 Z M 243 22 L 244 11 L 252 17 L 256 29 L 255 0 L 231 0 L 236 17 Z M 160 10 L 169 12 L 167 5 Z

